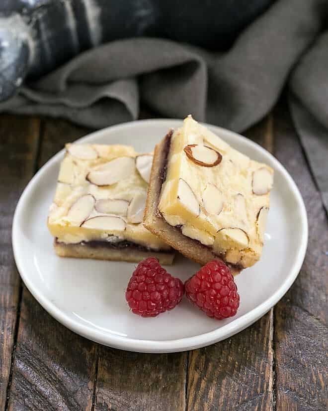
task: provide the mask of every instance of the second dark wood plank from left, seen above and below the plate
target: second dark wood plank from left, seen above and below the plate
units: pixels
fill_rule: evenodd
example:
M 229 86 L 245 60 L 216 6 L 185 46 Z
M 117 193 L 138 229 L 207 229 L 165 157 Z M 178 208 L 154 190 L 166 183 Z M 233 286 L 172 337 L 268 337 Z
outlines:
M 85 133 L 61 120 L 41 129 L 40 164 Z M 24 288 L 8 410 L 90 411 L 96 358 L 96 344 L 59 324 Z

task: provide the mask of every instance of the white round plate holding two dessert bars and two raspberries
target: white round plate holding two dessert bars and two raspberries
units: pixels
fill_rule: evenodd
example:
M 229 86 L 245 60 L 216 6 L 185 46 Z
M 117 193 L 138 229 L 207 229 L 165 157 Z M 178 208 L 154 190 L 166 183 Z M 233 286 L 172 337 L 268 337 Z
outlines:
M 88 143 L 132 144 L 153 150 L 177 120 L 145 120 L 110 127 L 81 138 Z M 172 311 L 141 318 L 129 311 L 125 288 L 135 264 L 57 257 L 46 226 L 64 150 L 29 182 L 15 211 L 14 257 L 27 288 L 58 321 L 98 343 L 138 352 L 190 350 L 238 333 L 265 314 L 285 294 L 304 260 L 308 225 L 302 197 L 291 176 L 271 154 L 236 133 L 208 126 L 251 158 L 275 170 L 271 208 L 261 260 L 236 277 L 241 305 L 234 318 L 208 318 L 184 298 Z M 199 266 L 178 256 L 169 273 L 186 280 Z

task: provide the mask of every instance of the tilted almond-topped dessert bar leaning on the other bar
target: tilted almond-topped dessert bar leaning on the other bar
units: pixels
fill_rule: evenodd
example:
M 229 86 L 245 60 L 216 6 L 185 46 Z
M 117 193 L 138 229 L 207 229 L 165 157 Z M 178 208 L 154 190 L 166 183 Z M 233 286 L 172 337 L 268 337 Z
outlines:
M 144 225 L 186 257 L 221 258 L 236 274 L 261 256 L 272 183 L 269 166 L 188 116 L 155 148 Z

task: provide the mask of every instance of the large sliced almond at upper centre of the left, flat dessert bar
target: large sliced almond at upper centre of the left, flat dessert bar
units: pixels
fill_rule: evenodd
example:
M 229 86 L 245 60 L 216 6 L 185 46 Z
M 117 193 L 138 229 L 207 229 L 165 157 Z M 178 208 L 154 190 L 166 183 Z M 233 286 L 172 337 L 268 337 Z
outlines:
M 86 179 L 98 186 L 111 185 L 128 178 L 135 168 L 133 157 L 118 157 L 90 171 Z

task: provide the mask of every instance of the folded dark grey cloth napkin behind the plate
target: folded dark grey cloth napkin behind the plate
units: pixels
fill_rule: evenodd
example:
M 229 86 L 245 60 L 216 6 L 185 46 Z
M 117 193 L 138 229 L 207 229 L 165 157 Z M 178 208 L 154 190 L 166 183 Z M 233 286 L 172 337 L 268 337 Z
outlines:
M 242 132 L 285 84 L 296 129 L 328 210 L 327 0 L 277 0 L 224 53 L 158 38 L 113 41 L 0 103 L 0 111 L 65 117 L 92 128 L 135 120 L 142 101 L 162 117 Z

